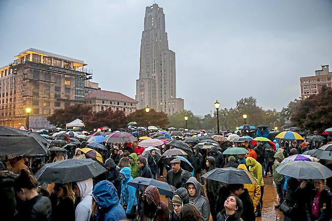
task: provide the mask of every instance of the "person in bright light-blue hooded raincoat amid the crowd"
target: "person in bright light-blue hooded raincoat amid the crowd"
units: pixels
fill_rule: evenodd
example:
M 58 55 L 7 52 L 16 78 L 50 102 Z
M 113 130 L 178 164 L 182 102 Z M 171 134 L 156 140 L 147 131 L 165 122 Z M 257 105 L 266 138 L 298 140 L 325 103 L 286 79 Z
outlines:
M 136 188 L 128 185 L 128 182 L 133 178 L 131 177 L 131 169 L 128 167 L 123 168 L 120 171 L 121 174 L 125 176 L 125 178 L 121 181 L 121 199 L 120 203 L 122 205 L 127 205 L 126 213 L 130 214 L 133 206 L 137 206 L 136 199 Z

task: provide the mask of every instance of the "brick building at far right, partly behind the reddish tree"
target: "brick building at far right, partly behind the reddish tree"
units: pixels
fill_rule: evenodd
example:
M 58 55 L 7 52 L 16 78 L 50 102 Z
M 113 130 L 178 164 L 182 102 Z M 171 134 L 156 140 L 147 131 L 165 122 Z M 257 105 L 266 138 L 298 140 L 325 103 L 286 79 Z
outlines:
M 322 86 L 332 88 L 332 72 L 328 65 L 322 66 L 322 70 L 315 71 L 315 76 L 300 77 L 301 97 L 308 98 L 318 94 Z

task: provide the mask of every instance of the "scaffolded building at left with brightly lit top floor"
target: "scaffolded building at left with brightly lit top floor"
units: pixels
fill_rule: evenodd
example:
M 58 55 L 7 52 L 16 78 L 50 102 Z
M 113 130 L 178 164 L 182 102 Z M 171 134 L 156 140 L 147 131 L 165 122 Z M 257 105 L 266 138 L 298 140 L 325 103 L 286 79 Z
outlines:
M 34 48 L 22 51 L 17 60 L 0 69 L 0 124 L 44 128 L 55 109 L 85 103 L 85 81 L 92 71 L 77 59 Z

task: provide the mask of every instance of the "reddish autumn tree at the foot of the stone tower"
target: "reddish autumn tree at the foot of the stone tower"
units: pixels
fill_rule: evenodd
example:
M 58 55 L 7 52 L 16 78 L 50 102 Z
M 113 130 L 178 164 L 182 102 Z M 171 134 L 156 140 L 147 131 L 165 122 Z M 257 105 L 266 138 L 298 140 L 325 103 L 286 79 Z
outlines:
M 136 110 L 134 113 L 128 115 L 128 122 L 135 121 L 139 126 L 160 126 L 166 127 L 169 123 L 167 114 L 163 112 L 156 112 L 154 109 L 150 109 L 149 113 L 145 112 L 145 109 Z

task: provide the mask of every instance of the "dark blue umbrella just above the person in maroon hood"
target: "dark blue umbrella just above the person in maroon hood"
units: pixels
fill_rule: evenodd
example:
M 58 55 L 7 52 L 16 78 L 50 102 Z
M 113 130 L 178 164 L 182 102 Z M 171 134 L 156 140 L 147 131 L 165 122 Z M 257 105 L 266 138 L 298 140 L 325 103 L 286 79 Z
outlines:
M 129 181 L 128 185 L 131 185 L 136 189 L 143 189 L 144 187 L 152 185 L 158 188 L 160 195 L 173 197 L 172 188 L 167 182 L 162 182 L 159 180 L 145 177 L 136 177 L 135 179 Z

